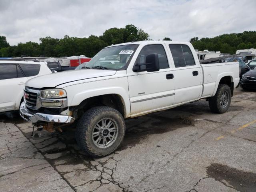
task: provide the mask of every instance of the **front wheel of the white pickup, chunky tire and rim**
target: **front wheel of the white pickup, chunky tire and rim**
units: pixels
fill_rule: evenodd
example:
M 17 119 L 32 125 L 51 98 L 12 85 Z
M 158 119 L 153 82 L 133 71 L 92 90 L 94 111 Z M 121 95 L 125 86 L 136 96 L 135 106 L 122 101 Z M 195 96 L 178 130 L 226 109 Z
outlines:
M 123 116 L 107 106 L 97 106 L 85 112 L 76 127 L 78 145 L 94 157 L 114 152 L 122 142 L 124 134 Z

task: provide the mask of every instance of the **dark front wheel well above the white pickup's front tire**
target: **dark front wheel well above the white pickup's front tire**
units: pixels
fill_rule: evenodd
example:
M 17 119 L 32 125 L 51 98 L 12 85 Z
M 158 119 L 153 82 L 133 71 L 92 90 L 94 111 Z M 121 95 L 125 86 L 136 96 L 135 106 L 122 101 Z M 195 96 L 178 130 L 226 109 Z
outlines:
M 118 110 L 125 117 L 125 106 L 122 97 L 118 94 L 106 94 L 87 98 L 74 108 L 74 116 L 80 116 L 88 109 L 96 106 L 109 106 Z

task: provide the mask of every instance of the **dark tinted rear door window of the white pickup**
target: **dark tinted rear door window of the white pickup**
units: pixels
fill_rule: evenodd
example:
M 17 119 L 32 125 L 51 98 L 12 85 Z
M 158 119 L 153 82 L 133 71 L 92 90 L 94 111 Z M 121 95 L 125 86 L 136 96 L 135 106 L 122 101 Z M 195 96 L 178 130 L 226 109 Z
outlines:
M 185 67 L 196 65 L 192 52 L 187 45 L 170 44 L 169 45 L 175 67 Z

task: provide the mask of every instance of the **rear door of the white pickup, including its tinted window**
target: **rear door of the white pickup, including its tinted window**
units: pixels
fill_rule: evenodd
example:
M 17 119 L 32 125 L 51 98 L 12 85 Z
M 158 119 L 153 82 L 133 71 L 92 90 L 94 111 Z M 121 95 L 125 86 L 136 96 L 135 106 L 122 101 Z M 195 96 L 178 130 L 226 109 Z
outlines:
M 202 93 L 202 68 L 186 44 L 169 44 L 174 61 L 175 99 L 180 104 L 200 98 Z

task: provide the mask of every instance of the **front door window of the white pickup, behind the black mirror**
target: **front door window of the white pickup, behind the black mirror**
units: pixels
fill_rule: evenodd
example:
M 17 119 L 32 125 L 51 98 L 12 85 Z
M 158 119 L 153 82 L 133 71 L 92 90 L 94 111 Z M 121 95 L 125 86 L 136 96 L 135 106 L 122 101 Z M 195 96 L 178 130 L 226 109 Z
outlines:
M 137 63 L 145 63 L 146 56 L 150 54 L 158 54 L 159 67 L 160 69 L 169 68 L 166 53 L 162 45 L 146 45 L 140 51 L 140 54 L 137 57 Z

